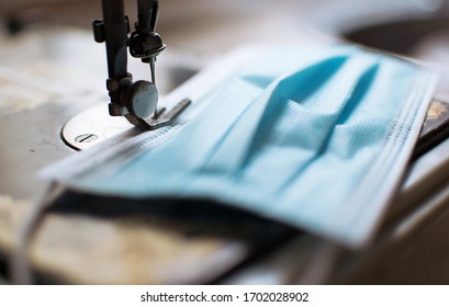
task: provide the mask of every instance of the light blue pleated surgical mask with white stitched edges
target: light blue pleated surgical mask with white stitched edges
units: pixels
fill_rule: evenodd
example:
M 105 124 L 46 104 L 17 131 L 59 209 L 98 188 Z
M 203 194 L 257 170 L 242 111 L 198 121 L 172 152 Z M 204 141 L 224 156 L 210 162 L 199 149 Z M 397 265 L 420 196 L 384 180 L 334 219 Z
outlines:
M 433 75 L 344 45 L 248 48 L 238 58 L 175 94 L 193 100 L 177 126 L 108 149 L 126 157 L 121 162 L 98 158 L 89 171 L 50 177 L 104 195 L 215 200 L 347 247 L 367 245 L 401 183 Z

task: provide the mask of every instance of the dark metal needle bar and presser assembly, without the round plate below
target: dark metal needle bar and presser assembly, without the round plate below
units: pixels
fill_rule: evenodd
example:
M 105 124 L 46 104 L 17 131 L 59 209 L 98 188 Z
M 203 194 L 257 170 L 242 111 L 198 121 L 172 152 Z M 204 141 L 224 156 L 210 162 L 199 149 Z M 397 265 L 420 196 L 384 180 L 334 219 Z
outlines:
M 102 0 L 102 8 L 103 20 L 93 21 L 92 27 L 96 42 L 105 43 L 106 47 L 110 115 L 125 116 L 131 124 L 143 129 L 157 129 L 170 124 L 189 105 L 190 100 L 181 101 L 159 120 L 165 110 L 157 111 L 155 61 L 166 45 L 155 32 L 158 1 L 137 0 L 138 16 L 131 36 L 130 20 L 125 15 L 123 0 Z M 133 76 L 127 71 L 127 48 L 133 57 L 149 65 L 150 81 L 133 82 Z M 153 118 L 146 122 L 144 118 L 151 114 Z

